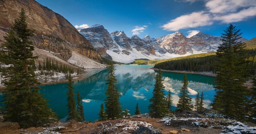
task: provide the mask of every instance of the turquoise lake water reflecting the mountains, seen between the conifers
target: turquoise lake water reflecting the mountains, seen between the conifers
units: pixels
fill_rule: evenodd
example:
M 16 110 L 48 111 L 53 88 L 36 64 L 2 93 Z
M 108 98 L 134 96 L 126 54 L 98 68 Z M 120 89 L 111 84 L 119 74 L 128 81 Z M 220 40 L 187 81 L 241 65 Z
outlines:
M 152 65 L 118 65 L 115 66 L 115 74 L 119 91 L 121 91 L 120 102 L 121 106 L 130 110 L 131 115 L 134 115 L 136 104 L 139 103 L 139 109 L 142 113 L 148 112 L 149 99 L 152 97 L 154 89 L 156 72 L 150 68 Z M 100 104 L 104 103 L 106 98 L 105 84 L 108 70 L 105 69 L 86 69 L 89 73 L 85 74 L 84 80 L 79 80 L 73 83 L 75 87 L 74 93 L 79 91 L 83 98 L 83 106 L 85 119 L 87 121 L 95 121 L 98 119 Z M 163 72 L 163 80 L 165 93 L 171 90 L 174 106 L 178 103 L 178 95 L 182 87 L 183 73 Z M 214 77 L 203 76 L 198 74 L 187 74 L 189 81 L 188 89 L 193 104 L 197 92 L 204 92 L 205 107 L 208 107 L 213 100 L 215 91 Z M 67 84 L 52 84 L 40 86 L 39 91 L 44 94 L 44 98 L 48 98 L 50 108 L 57 113 L 61 121 L 65 121 L 67 116 Z M 76 98 L 76 97 L 75 97 Z M 76 98 L 77 99 L 77 98 Z M 173 106 L 173 107 L 174 107 Z M 175 109 L 175 108 L 174 108 Z

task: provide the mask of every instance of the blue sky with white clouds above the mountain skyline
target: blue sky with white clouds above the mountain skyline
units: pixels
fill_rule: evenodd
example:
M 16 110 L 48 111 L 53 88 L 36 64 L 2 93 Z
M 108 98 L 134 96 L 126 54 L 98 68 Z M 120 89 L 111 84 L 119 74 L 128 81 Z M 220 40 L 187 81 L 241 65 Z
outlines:
M 73 26 L 101 24 L 128 37 L 162 37 L 181 31 L 220 36 L 233 24 L 246 39 L 256 37 L 256 0 L 37 0 Z

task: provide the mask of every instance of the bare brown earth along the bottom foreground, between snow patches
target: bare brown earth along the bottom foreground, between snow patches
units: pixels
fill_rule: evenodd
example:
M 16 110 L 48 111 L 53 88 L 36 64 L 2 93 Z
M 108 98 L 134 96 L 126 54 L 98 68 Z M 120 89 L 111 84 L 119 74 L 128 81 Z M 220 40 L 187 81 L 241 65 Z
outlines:
M 153 128 L 161 130 L 162 134 L 170 134 L 169 131 L 176 130 L 179 134 L 219 134 L 221 129 L 210 129 L 210 128 L 198 128 L 198 127 L 189 127 L 189 126 L 182 126 L 182 127 L 172 127 L 164 125 L 163 122 L 157 122 L 160 119 L 155 118 L 131 118 L 131 119 L 116 119 L 116 120 L 108 120 L 108 121 L 98 121 L 95 123 L 79 123 L 79 122 L 68 122 L 68 123 L 59 123 L 52 125 L 53 126 L 65 126 L 67 127 L 66 130 L 61 130 L 59 133 L 64 134 L 97 134 L 102 130 L 102 124 L 113 126 L 116 123 L 120 123 L 123 120 L 130 120 L 130 121 L 145 121 L 147 123 L 152 124 Z M 181 128 L 187 128 L 191 130 L 190 132 L 182 131 Z M 109 132 L 109 134 L 119 134 L 123 132 L 122 128 L 117 128 L 113 132 Z M 38 128 L 28 128 L 28 129 L 17 129 L 6 132 L 6 134 L 35 134 L 41 132 L 43 127 Z M 132 132 L 132 131 L 126 131 Z

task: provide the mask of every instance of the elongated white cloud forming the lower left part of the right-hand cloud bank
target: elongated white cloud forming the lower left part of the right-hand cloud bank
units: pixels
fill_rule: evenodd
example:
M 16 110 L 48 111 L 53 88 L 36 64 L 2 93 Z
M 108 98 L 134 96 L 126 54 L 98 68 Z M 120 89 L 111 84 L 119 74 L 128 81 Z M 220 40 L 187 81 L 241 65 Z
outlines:
M 206 26 L 211 24 L 213 24 L 213 22 L 211 21 L 210 15 L 204 11 L 200 11 L 172 19 L 170 22 L 161 27 L 164 30 L 177 31 L 184 28 L 195 28 L 198 26 Z

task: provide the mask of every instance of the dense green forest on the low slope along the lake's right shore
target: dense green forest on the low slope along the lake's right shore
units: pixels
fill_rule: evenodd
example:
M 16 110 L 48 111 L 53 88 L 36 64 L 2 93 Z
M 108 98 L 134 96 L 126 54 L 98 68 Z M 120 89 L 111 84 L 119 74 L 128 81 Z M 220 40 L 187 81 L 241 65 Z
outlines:
M 247 60 L 248 66 L 250 67 L 250 73 L 254 74 L 256 65 L 256 38 L 253 38 L 245 42 L 247 44 Z M 143 63 L 143 61 L 136 61 L 137 63 Z M 150 63 L 150 61 L 145 61 Z M 145 63 L 144 62 L 144 63 Z M 216 61 L 216 54 L 193 54 L 190 56 L 172 58 L 168 60 L 152 61 L 156 63 L 154 68 L 161 68 L 165 70 L 175 71 L 206 71 L 215 73 L 215 65 L 218 65 Z

